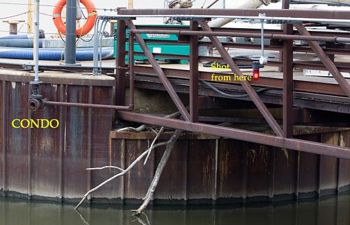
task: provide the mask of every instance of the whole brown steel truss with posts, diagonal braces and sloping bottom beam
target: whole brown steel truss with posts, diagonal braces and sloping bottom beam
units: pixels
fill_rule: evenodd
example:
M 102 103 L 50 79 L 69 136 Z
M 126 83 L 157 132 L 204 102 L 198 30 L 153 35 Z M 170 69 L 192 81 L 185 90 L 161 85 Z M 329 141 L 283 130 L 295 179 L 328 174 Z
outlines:
M 288 8 L 288 1 L 285 1 L 285 8 Z M 259 132 L 252 132 L 248 130 L 240 130 L 235 128 L 227 128 L 223 126 L 214 126 L 211 124 L 198 122 L 198 97 L 200 80 L 209 80 L 208 74 L 198 71 L 198 62 L 201 60 L 215 60 L 217 62 L 226 62 L 230 65 L 233 73 L 243 75 L 239 63 L 252 63 L 252 60 L 233 60 L 225 47 L 240 47 L 259 49 L 257 45 L 240 45 L 234 43 L 221 43 L 218 36 L 242 36 L 242 37 L 260 37 L 259 30 L 256 29 L 228 29 L 228 28 L 211 28 L 207 24 L 206 15 L 213 16 L 258 16 L 265 13 L 270 18 L 279 17 L 278 23 L 283 23 L 281 30 L 266 30 L 264 35 L 266 38 L 273 40 L 271 43 L 275 45 L 266 46 L 266 49 L 281 51 L 283 60 L 277 62 L 268 62 L 268 65 L 281 67 L 283 69 L 283 81 L 281 83 L 269 83 L 268 78 L 262 78 L 259 82 L 254 83 L 254 86 L 278 86 L 282 88 L 281 95 L 283 99 L 279 104 L 283 106 L 283 123 L 279 125 L 277 120 L 272 116 L 264 101 L 259 97 L 256 89 L 247 81 L 240 82 L 240 85 L 226 85 L 231 86 L 235 90 L 244 90 L 248 97 L 264 116 L 270 128 L 275 132 L 275 135 L 263 134 Z M 313 95 L 314 97 L 325 97 L 326 99 L 338 99 L 339 101 L 348 102 L 350 97 L 350 85 L 340 72 L 350 71 L 350 63 L 334 62 L 331 60 L 332 55 L 340 54 L 350 56 L 350 50 L 344 47 L 343 44 L 349 43 L 350 34 L 347 32 L 309 32 L 305 25 L 310 25 L 308 19 L 322 19 L 323 21 L 338 19 L 350 22 L 350 14 L 343 11 L 314 11 L 314 10 L 205 10 L 205 9 L 191 9 L 191 10 L 127 10 L 119 9 L 118 16 L 102 16 L 104 20 L 117 20 L 117 59 L 116 59 L 116 91 L 115 91 L 115 106 L 101 106 L 93 104 L 74 104 L 62 102 L 45 102 L 46 105 L 56 106 L 78 106 L 86 108 L 106 108 L 117 110 L 116 115 L 119 119 L 126 121 L 135 121 L 139 123 L 148 123 L 157 126 L 166 126 L 169 128 L 176 128 L 187 130 L 190 132 L 201 132 L 205 134 L 213 134 L 229 139 L 239 139 L 242 141 L 249 141 L 253 143 L 260 143 L 264 145 L 271 145 L 275 147 L 287 148 L 290 150 L 297 150 L 303 152 L 311 152 L 314 154 L 322 154 L 327 156 L 334 156 L 338 158 L 350 159 L 350 148 L 340 147 L 334 145 L 327 145 L 324 143 L 316 143 L 313 141 L 304 141 L 301 139 L 293 139 L 293 106 L 294 95 L 298 95 L 298 91 L 308 90 L 310 93 L 299 93 L 299 95 Z M 137 16 L 166 15 L 174 16 L 180 19 L 187 19 L 190 21 L 189 28 L 176 27 L 143 27 L 138 29 L 133 20 Z M 303 15 L 305 21 L 296 20 L 300 15 Z M 281 19 L 282 18 L 282 19 Z M 285 19 L 283 19 L 285 18 Z M 294 19 L 294 20 L 293 20 Z M 293 28 L 296 28 L 294 30 Z M 127 38 L 126 29 L 129 29 L 129 38 Z M 178 34 L 179 42 L 170 42 L 162 40 L 144 40 L 141 34 Z M 198 39 L 198 36 L 208 36 L 211 43 L 203 43 Z M 293 40 L 305 40 L 309 47 L 294 47 Z M 130 49 L 126 51 L 126 42 L 129 41 Z M 133 49 L 134 42 L 137 41 L 143 53 L 135 53 Z M 318 41 L 325 41 L 329 45 L 326 48 L 320 47 Z M 189 45 L 189 56 L 176 56 L 171 54 L 152 54 L 147 46 L 147 43 L 171 43 L 172 45 Z M 218 49 L 221 57 L 200 57 L 198 56 L 198 46 L 211 45 Z M 293 62 L 293 52 L 314 52 L 320 62 L 300 61 Z M 126 55 L 129 55 L 129 64 L 126 64 Z M 135 56 L 146 56 L 152 67 L 139 67 L 133 63 Z M 172 58 L 185 58 L 190 62 L 190 69 L 187 73 L 179 74 L 176 70 L 162 69 L 160 64 L 156 61 L 156 57 L 171 56 Z M 309 68 L 329 71 L 338 82 L 339 85 L 332 88 L 324 88 L 312 84 L 314 86 L 298 86 L 293 80 L 293 68 Z M 137 75 L 135 75 L 137 74 Z M 134 82 L 142 77 L 142 74 L 157 75 L 163 89 L 172 98 L 172 101 L 178 108 L 182 119 L 169 119 L 154 115 L 144 115 L 136 112 L 130 112 L 133 109 L 133 91 Z M 127 76 L 129 75 L 129 76 Z M 140 76 L 139 76 L 140 75 Z M 189 80 L 189 111 L 181 101 L 176 88 L 170 82 L 168 76 L 183 76 Z M 130 82 L 130 104 L 125 106 L 125 95 L 127 87 L 127 78 Z M 223 84 L 224 85 L 224 84 Z M 349 113 L 349 111 L 345 110 Z

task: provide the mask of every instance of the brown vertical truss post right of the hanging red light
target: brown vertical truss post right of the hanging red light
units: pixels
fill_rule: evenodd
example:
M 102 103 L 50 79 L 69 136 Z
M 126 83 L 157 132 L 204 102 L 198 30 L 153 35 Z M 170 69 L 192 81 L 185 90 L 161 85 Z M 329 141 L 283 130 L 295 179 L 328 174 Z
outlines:
M 289 8 L 290 1 L 283 1 Z M 293 34 L 293 25 L 283 25 L 283 34 Z M 283 137 L 293 137 L 293 40 L 283 40 Z

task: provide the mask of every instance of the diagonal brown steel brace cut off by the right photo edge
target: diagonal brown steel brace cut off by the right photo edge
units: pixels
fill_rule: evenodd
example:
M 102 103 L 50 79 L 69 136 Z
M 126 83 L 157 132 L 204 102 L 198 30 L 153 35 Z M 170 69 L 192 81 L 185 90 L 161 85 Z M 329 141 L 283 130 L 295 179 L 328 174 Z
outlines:
M 294 27 L 298 30 L 301 35 L 311 36 L 310 32 L 307 31 L 306 27 L 302 24 L 294 24 Z M 328 71 L 333 75 L 334 79 L 338 82 L 342 90 L 350 97 L 350 84 L 347 80 L 342 76 L 339 69 L 336 67 L 334 62 L 327 56 L 325 51 L 323 51 L 322 47 L 318 45 L 318 43 L 314 40 L 308 40 L 307 44 L 310 45 L 312 51 L 320 58 L 321 62 L 325 64 L 325 67 Z

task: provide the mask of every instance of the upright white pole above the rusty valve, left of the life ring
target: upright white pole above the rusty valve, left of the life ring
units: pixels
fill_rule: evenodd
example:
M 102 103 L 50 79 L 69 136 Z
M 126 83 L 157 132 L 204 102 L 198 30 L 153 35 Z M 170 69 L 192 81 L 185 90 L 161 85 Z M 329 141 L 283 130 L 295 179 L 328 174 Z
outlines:
M 35 29 L 34 29 L 34 51 L 33 60 L 35 64 L 35 78 L 34 84 L 39 83 L 39 2 L 40 0 L 34 0 L 34 12 L 35 12 Z

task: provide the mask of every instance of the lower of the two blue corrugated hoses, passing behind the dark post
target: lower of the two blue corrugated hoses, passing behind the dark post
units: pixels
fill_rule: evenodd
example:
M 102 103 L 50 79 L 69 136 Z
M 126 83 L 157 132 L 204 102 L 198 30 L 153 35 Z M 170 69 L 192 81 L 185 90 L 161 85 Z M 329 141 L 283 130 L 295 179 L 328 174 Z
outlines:
M 62 54 L 64 49 L 39 49 L 39 60 L 61 60 L 65 58 Z M 113 47 L 102 48 L 102 58 L 112 59 L 114 49 Z M 93 48 L 77 49 L 77 60 L 86 61 L 93 60 Z M 0 58 L 12 58 L 21 60 L 32 60 L 33 49 L 19 49 L 19 48 L 4 48 L 0 47 Z

